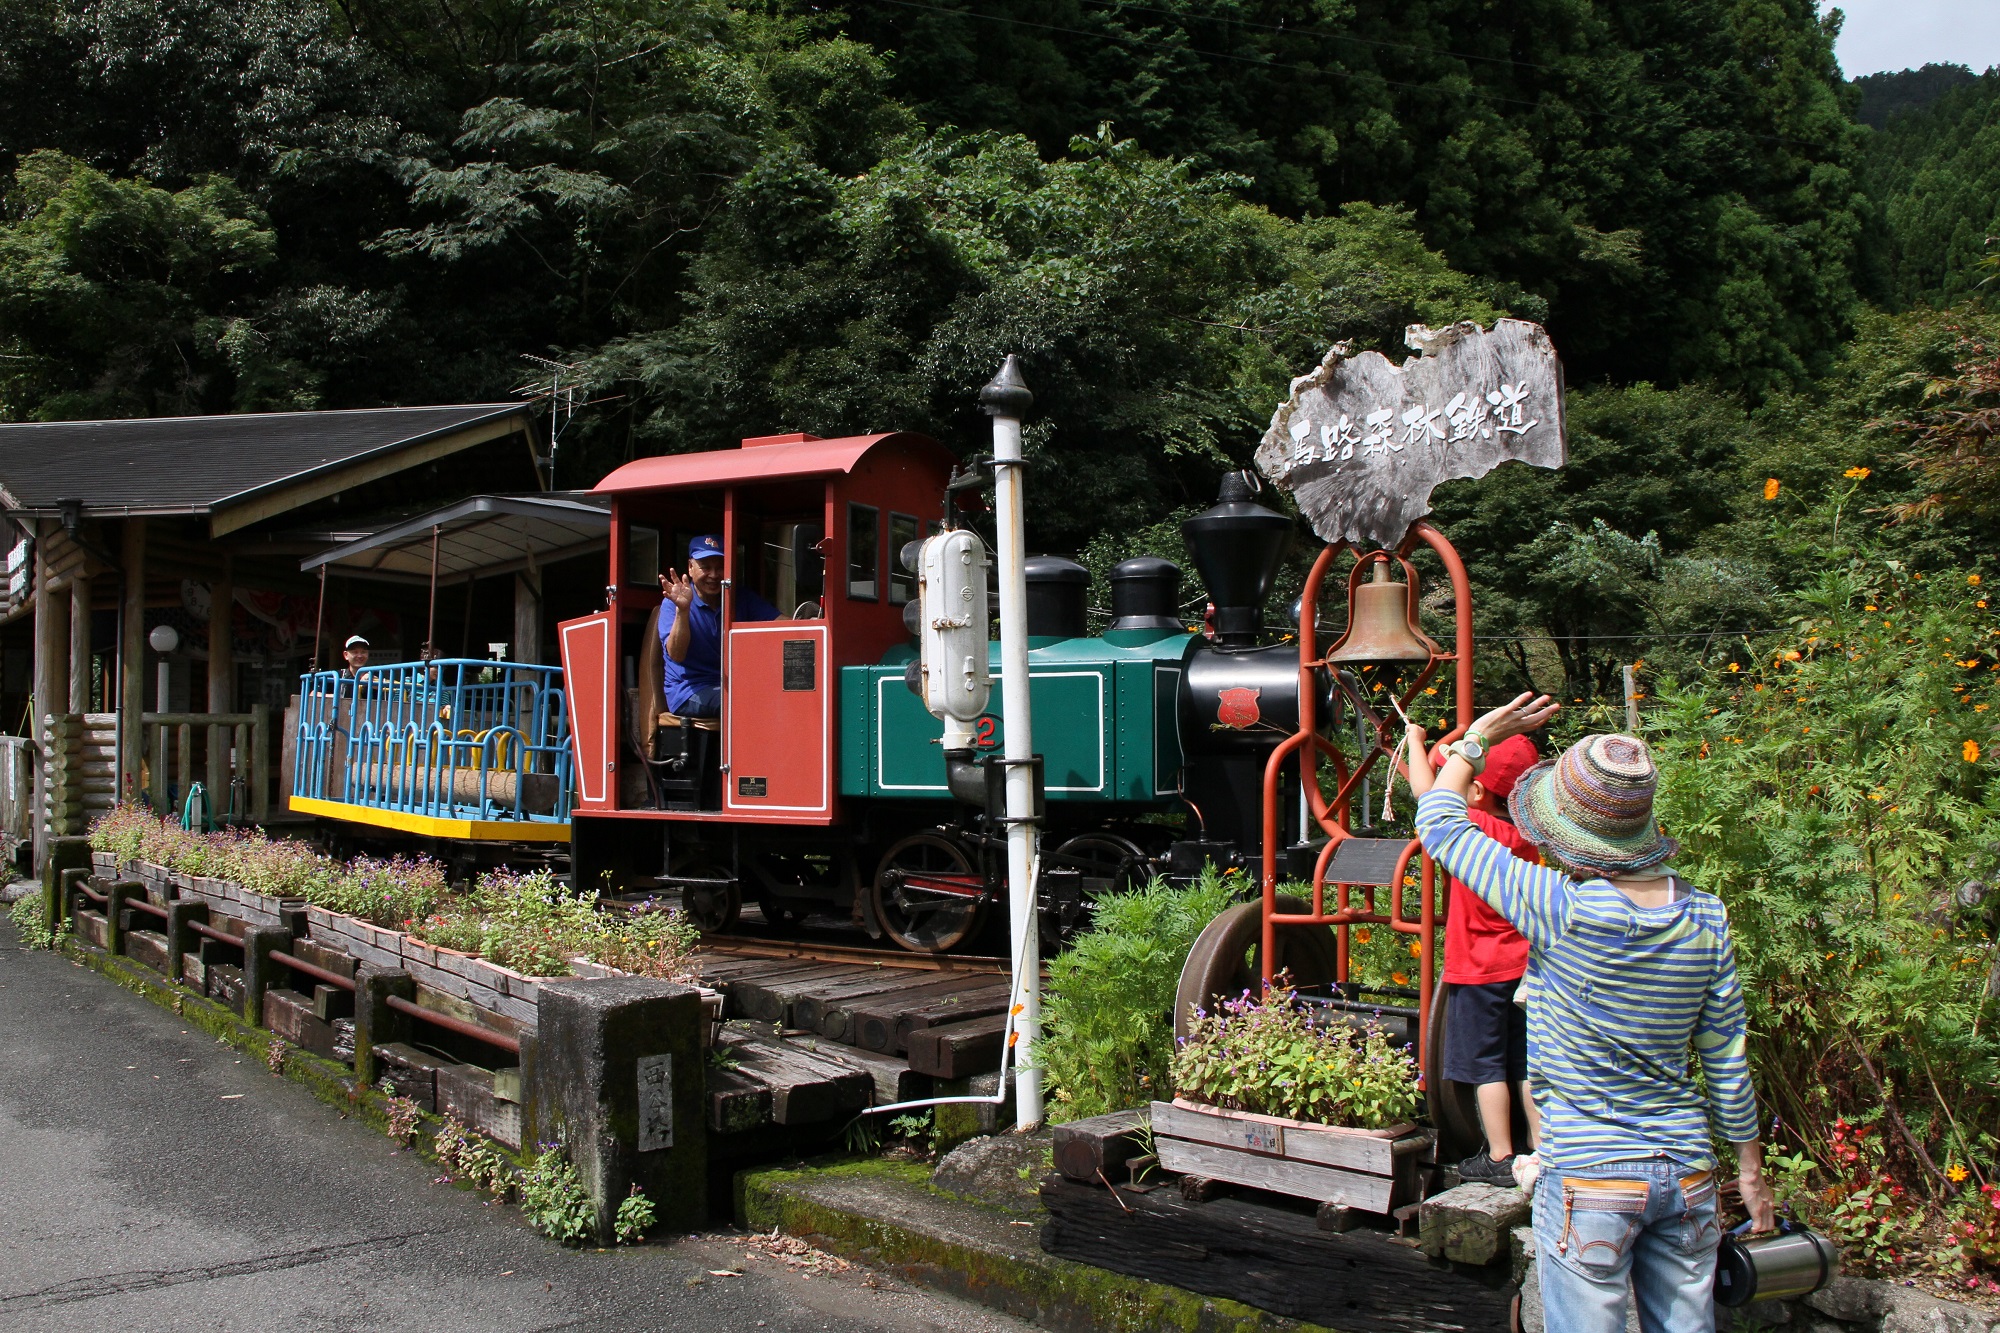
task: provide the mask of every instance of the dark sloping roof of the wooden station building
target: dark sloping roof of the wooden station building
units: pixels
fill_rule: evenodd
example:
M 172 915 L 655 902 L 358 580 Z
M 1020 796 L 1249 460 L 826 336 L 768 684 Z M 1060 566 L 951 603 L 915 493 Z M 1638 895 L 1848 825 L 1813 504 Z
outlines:
M 526 428 L 522 402 L 0 424 L 0 506 L 208 514 L 220 536 Z

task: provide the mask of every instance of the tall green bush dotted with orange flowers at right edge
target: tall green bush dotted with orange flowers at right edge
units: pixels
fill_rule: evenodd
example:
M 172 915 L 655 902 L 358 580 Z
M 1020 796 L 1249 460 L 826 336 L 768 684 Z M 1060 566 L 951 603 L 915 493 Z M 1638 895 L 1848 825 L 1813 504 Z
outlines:
M 1660 819 L 1730 907 L 1786 1139 L 1826 1163 L 1842 1117 L 1878 1125 L 1884 1179 L 1938 1197 L 1996 1165 L 2000 618 L 1982 574 L 1866 550 L 1782 612 L 1662 691 Z

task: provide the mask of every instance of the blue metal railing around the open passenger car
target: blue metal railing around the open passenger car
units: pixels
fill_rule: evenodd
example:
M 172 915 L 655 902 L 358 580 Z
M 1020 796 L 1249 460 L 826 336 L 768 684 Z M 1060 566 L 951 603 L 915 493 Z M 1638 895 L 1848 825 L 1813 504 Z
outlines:
M 560 666 L 440 658 L 310 673 L 292 795 L 436 819 L 570 823 Z

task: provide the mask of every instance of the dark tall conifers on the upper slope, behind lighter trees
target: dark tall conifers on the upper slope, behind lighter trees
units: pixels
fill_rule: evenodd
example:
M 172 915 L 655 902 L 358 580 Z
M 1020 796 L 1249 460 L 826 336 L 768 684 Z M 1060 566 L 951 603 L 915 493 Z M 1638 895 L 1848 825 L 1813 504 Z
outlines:
M 1858 134 L 1810 0 L 832 8 L 928 122 L 1050 154 L 1110 122 L 1280 212 L 1406 204 L 1588 376 L 1764 390 L 1840 340 Z

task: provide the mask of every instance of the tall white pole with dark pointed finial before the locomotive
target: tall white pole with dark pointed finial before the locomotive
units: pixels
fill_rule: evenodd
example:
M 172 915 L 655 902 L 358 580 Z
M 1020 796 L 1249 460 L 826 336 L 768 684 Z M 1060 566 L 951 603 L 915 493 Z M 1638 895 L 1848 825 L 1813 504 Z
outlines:
M 1036 919 L 1034 725 L 1028 713 L 1028 552 L 1022 494 L 1020 418 L 1034 402 L 1020 362 L 1010 354 L 1000 374 L 980 390 L 994 418 L 994 536 L 1000 542 L 1000 705 L 1006 719 L 1006 869 L 1012 927 L 1014 1007 L 1008 1045 L 1014 1051 L 1014 1119 L 1022 1129 L 1042 1123 L 1042 1071 L 1034 1043 L 1042 1037 L 1042 937 Z

